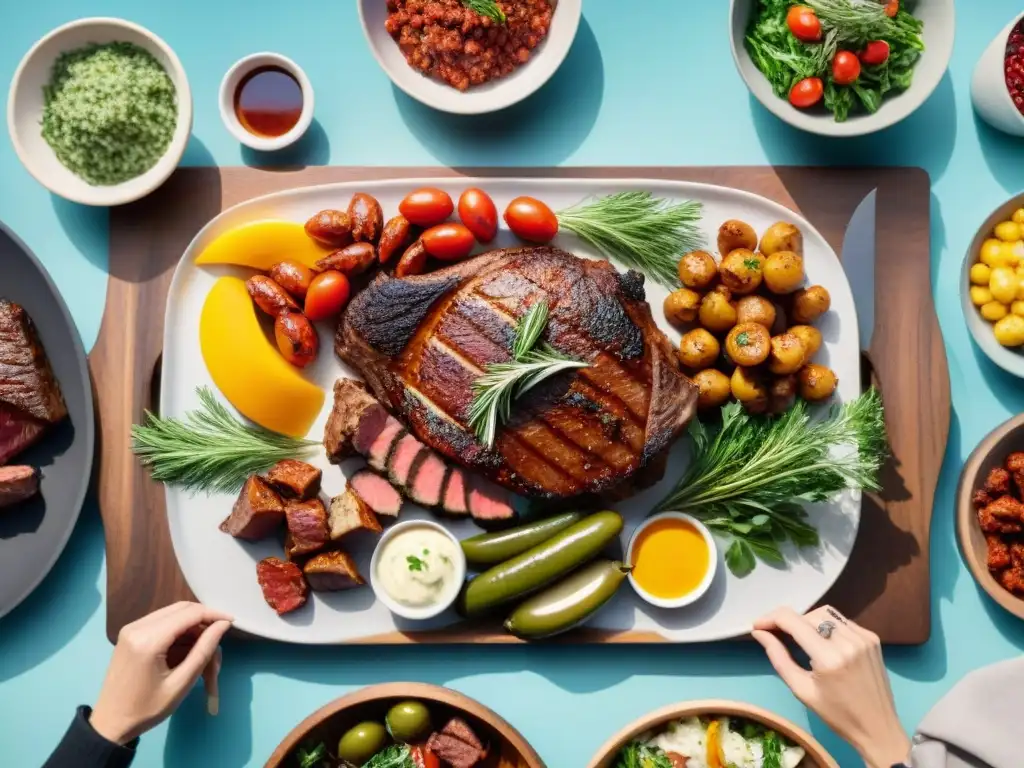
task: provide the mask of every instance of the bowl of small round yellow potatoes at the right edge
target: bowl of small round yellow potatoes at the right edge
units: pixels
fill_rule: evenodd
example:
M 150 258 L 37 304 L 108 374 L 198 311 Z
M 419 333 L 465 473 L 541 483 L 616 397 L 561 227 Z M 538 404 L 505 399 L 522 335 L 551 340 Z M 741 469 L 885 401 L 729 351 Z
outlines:
M 1024 378 L 1024 195 L 999 206 L 978 230 L 962 286 L 975 343 L 996 366 Z

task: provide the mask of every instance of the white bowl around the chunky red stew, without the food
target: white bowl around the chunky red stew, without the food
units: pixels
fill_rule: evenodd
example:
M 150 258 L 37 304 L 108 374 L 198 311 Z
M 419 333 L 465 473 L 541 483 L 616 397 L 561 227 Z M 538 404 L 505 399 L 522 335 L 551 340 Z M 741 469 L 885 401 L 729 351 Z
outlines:
M 409 66 L 398 44 L 384 29 L 388 16 L 384 0 L 358 0 L 359 20 L 370 50 L 391 82 L 427 106 L 458 115 L 504 110 L 526 98 L 555 74 L 572 47 L 583 14 L 583 0 L 552 0 L 552 5 L 555 10 L 551 29 L 532 51 L 529 61 L 508 77 L 460 91 Z

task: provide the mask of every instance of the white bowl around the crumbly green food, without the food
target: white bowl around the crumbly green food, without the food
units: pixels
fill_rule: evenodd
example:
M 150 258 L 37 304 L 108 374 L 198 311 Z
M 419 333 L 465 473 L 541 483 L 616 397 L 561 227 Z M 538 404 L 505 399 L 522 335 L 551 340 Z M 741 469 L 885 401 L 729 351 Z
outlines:
M 110 186 L 94 186 L 68 170 L 40 130 L 43 87 L 57 56 L 90 43 L 127 42 L 150 51 L 166 70 L 178 96 L 178 123 L 164 156 L 148 171 Z M 191 133 L 191 91 L 181 61 L 163 40 L 121 18 L 82 18 L 53 30 L 32 46 L 14 72 L 7 98 L 7 130 L 14 152 L 39 183 L 54 195 L 91 206 L 116 206 L 143 198 L 174 172 Z

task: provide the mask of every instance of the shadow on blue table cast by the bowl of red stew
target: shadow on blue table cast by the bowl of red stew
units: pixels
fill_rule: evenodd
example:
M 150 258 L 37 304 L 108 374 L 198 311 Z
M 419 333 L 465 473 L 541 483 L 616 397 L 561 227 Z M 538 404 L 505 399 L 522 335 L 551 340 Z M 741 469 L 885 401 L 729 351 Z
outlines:
M 562 66 L 537 93 L 488 115 L 450 115 L 392 86 L 398 114 L 424 147 L 447 166 L 557 166 L 584 142 L 604 96 L 604 63 L 594 31 L 580 22 Z

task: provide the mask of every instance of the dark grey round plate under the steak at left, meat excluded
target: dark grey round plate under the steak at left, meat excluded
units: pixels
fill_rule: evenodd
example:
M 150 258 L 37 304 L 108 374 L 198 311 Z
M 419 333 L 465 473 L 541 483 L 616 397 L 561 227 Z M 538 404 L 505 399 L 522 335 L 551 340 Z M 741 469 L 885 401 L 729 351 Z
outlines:
M 92 474 L 95 422 L 85 349 L 75 322 L 28 247 L 0 222 L 0 298 L 32 316 L 60 384 L 70 419 L 11 463 L 43 473 L 41 494 L 0 509 L 0 616 L 32 594 L 63 551 Z

